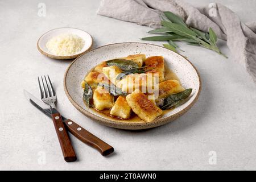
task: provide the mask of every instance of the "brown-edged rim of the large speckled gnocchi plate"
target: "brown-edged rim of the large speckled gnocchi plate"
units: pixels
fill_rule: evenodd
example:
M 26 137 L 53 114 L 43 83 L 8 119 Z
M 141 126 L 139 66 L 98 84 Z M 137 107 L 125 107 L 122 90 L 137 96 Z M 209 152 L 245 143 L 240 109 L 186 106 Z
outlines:
M 160 48 L 167 49 L 165 47 L 158 46 L 158 45 L 155 45 L 155 44 L 150 44 L 150 43 L 121 42 L 121 43 L 106 44 L 104 46 L 100 46 L 100 47 L 91 49 L 90 51 L 85 52 L 85 53 L 89 53 L 91 51 L 94 51 L 94 50 L 102 48 L 102 47 L 112 46 L 112 45 L 115 45 L 115 44 L 125 44 L 125 43 L 126 44 L 131 44 L 131 43 L 146 44 L 146 45 L 157 46 L 157 47 L 160 47 Z M 171 51 L 170 49 L 167 49 L 167 50 Z M 172 52 L 174 52 L 174 51 L 172 51 Z M 83 53 L 82 55 L 84 55 L 85 53 Z M 179 53 L 176 53 L 176 52 L 174 52 L 174 53 L 177 54 L 177 55 L 180 55 Z M 82 55 L 80 55 L 80 56 L 82 56 Z M 180 55 L 180 56 L 182 56 L 182 55 Z M 132 123 L 129 123 L 129 122 L 117 122 L 117 121 L 112 121 L 110 119 L 101 118 L 101 117 L 98 117 L 97 115 L 94 115 L 94 114 L 90 113 L 89 111 L 86 111 L 85 109 L 83 109 L 79 104 L 76 103 L 76 101 L 73 100 L 73 98 L 71 97 L 71 95 L 68 92 L 67 83 L 66 83 L 66 81 L 67 81 L 67 74 L 68 74 L 68 71 L 71 68 L 72 64 L 75 63 L 75 61 L 77 59 L 79 59 L 79 57 L 77 57 L 75 60 L 73 60 L 72 63 L 68 65 L 68 68 L 65 71 L 64 80 L 63 80 L 63 86 L 64 86 L 65 94 L 68 97 L 68 100 L 71 102 L 71 104 L 73 106 L 76 107 L 77 110 L 79 110 L 82 114 L 86 115 L 86 117 L 89 117 L 89 118 L 93 119 L 94 121 L 99 122 L 99 123 L 101 123 L 102 125 L 105 125 L 105 126 L 114 127 L 114 128 L 118 128 L 118 129 L 141 130 L 141 129 L 149 129 L 149 128 L 152 128 L 152 127 L 157 127 L 157 126 L 164 125 L 164 124 L 166 124 L 168 122 L 171 122 L 171 121 L 175 120 L 176 118 L 180 117 L 184 113 L 186 113 L 195 104 L 195 102 L 198 100 L 198 98 L 200 96 L 200 93 L 201 93 L 201 84 L 202 83 L 201 83 L 201 76 L 200 76 L 199 72 L 197 71 L 195 65 L 193 65 L 191 63 L 191 61 L 189 61 L 184 56 L 182 56 L 185 60 L 188 61 L 189 64 L 192 65 L 192 67 L 195 69 L 195 71 L 197 73 L 197 76 L 199 77 L 199 90 L 197 92 L 197 95 L 196 95 L 195 99 L 191 102 L 191 104 L 189 104 L 187 107 L 185 107 L 184 109 L 180 110 L 176 114 L 170 115 L 170 116 L 168 116 L 166 118 L 159 118 L 159 119 L 156 119 L 156 120 L 154 120 L 152 122 L 144 122 L 144 123 L 132 122 Z

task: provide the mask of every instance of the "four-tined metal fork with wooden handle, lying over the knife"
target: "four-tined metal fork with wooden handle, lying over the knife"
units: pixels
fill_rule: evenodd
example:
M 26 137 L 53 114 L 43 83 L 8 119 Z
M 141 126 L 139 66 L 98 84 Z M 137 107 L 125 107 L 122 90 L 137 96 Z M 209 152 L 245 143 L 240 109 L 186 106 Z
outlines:
M 76 160 L 76 154 L 75 154 L 75 151 L 73 150 L 71 140 L 69 139 L 69 136 L 68 136 L 67 130 L 65 129 L 61 115 L 59 111 L 56 110 L 55 102 L 57 101 L 57 97 L 53 89 L 52 82 L 48 75 L 47 75 L 47 78 L 46 76 L 44 76 L 44 79 L 43 79 L 43 77 L 41 76 L 41 81 L 40 81 L 40 78 L 38 77 L 38 85 L 39 85 L 41 100 L 47 105 L 49 105 L 51 109 L 52 121 L 55 126 L 57 137 L 60 142 L 60 147 L 63 152 L 64 160 L 66 162 L 73 162 Z

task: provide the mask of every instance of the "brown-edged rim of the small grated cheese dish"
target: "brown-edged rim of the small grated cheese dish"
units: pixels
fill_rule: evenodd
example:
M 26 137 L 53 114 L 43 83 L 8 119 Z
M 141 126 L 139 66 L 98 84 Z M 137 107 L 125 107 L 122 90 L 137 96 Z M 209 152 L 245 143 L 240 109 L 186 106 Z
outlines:
M 80 31 L 83 31 L 85 32 L 86 34 L 88 34 L 90 36 L 90 39 L 92 40 L 92 43 L 90 44 L 90 47 L 88 49 L 86 49 L 85 51 L 83 52 L 80 52 L 80 53 L 76 53 L 75 55 L 71 55 L 71 56 L 57 56 L 57 55 L 52 55 L 50 53 L 47 53 L 45 51 L 43 51 L 43 49 L 40 48 L 39 46 L 39 42 L 40 40 L 42 39 L 42 37 L 44 35 L 46 35 L 48 32 L 51 32 L 51 31 L 54 31 L 54 30 L 58 30 L 58 29 L 62 29 L 62 28 L 72 28 L 72 29 L 76 29 L 76 30 L 80 30 Z M 51 30 L 48 30 L 47 32 L 45 32 L 43 35 L 40 36 L 40 38 L 38 39 L 38 41 L 36 42 L 36 47 L 38 48 L 38 51 L 40 53 L 42 53 L 43 55 L 47 56 L 47 57 L 50 57 L 52 59 L 57 59 L 57 60 L 65 60 L 65 59 L 74 59 L 74 58 L 78 58 L 79 56 L 83 55 L 84 53 L 88 52 L 93 46 L 93 38 L 92 38 L 92 35 L 90 35 L 88 32 L 84 31 L 84 30 L 81 30 L 80 28 L 73 28 L 73 27 L 60 27 L 60 28 L 53 28 Z

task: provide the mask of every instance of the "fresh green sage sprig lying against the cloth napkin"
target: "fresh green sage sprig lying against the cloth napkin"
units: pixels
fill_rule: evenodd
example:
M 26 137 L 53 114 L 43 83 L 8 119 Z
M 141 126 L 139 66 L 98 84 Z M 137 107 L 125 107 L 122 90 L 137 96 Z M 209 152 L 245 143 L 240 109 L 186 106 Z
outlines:
M 174 52 L 178 52 L 177 49 L 179 49 L 177 44 L 174 43 L 175 41 L 187 42 L 189 45 L 210 49 L 227 58 L 217 47 L 217 36 L 212 28 L 209 28 L 209 32 L 203 32 L 196 28 L 188 27 L 182 18 L 170 11 L 165 11 L 163 14 L 162 28 L 148 32 L 161 35 L 142 38 L 142 40 L 168 41 L 168 44 L 163 44 L 163 46 Z

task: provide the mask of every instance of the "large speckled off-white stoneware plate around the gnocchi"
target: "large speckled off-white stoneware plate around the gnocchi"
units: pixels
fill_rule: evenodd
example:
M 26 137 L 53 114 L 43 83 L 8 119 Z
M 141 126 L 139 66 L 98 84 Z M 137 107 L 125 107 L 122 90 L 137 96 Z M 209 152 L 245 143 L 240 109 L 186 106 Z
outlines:
M 126 57 L 127 55 L 137 53 L 144 53 L 147 57 L 163 56 L 165 66 L 176 73 L 177 77 L 180 79 L 181 85 L 184 88 L 193 89 L 189 100 L 183 105 L 168 111 L 152 122 L 131 122 L 129 119 L 117 121 L 114 118 L 101 115 L 94 109 L 88 108 L 82 100 L 83 90 L 80 85 L 80 82 L 84 76 L 88 74 L 93 67 L 100 64 L 104 60 L 110 60 L 117 57 Z M 190 63 L 183 56 L 180 56 L 179 54 L 164 47 L 146 43 L 116 43 L 93 49 L 92 51 L 89 51 L 74 60 L 65 72 L 64 89 L 71 103 L 87 117 L 92 118 L 106 126 L 115 127 L 118 129 L 139 130 L 164 125 L 184 114 L 192 107 L 199 97 L 201 81 L 199 73 L 192 63 Z

